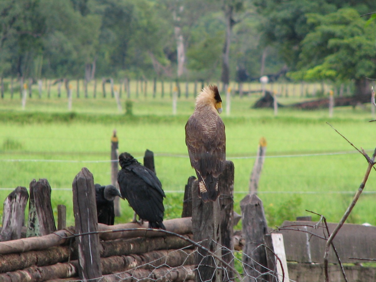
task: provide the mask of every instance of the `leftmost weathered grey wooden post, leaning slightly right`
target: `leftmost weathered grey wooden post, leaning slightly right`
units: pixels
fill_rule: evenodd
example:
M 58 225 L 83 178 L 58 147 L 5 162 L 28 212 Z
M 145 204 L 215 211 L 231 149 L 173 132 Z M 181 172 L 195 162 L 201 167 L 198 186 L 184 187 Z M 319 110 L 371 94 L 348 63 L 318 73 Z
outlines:
M 21 238 L 21 229 L 25 220 L 25 208 L 29 193 L 25 187 L 18 186 L 4 201 L 3 225 L 0 241 Z

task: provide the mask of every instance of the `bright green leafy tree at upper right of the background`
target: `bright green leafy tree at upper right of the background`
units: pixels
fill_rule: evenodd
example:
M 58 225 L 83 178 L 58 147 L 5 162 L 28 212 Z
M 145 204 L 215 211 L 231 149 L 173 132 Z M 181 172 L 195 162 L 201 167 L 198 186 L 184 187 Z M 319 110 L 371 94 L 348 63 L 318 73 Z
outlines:
M 293 73 L 302 79 L 354 80 L 355 95 L 370 93 L 367 77 L 376 76 L 375 24 L 352 8 L 327 15 L 307 14 L 314 26 L 302 41 L 302 52 Z

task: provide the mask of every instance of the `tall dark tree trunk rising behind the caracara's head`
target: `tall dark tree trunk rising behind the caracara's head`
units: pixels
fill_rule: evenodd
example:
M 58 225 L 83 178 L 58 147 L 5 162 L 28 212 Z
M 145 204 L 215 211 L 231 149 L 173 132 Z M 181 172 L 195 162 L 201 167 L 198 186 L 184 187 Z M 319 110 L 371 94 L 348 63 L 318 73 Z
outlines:
M 223 51 L 222 51 L 222 73 L 221 82 L 223 87 L 228 85 L 230 82 L 230 42 L 231 42 L 231 31 L 233 26 L 233 7 L 231 5 L 224 6 L 224 17 L 226 21 L 226 38 L 224 40 Z

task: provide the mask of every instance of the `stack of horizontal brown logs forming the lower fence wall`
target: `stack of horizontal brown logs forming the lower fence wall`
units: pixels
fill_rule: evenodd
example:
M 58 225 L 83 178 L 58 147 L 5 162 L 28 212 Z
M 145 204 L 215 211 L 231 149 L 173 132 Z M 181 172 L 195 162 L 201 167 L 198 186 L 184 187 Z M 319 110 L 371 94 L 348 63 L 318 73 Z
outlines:
M 194 279 L 194 248 L 189 242 L 193 238 L 191 218 L 166 220 L 165 225 L 168 231 L 184 235 L 176 237 L 158 231 L 136 230 L 139 225 L 133 223 L 99 224 L 103 232 L 100 233 L 100 264 L 106 280 Z M 147 228 L 147 225 L 142 227 Z M 72 229 L 0 242 L 0 281 L 79 280 L 77 244 Z M 141 233 L 146 236 L 138 237 Z

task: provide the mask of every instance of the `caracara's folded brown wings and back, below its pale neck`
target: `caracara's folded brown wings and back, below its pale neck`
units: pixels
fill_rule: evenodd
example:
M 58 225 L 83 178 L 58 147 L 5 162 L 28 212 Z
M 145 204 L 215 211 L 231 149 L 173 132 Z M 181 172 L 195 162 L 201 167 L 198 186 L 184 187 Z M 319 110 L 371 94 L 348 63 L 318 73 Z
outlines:
M 194 114 L 185 125 L 185 143 L 191 165 L 203 177 L 218 177 L 226 162 L 226 135 L 224 123 L 217 115 L 211 124 L 205 124 Z

